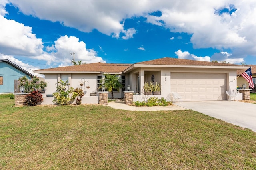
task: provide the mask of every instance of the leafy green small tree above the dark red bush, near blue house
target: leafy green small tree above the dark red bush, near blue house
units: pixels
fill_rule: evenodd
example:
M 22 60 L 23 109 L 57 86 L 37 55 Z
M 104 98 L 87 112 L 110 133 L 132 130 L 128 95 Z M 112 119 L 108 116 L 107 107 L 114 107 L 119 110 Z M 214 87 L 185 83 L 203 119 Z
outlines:
M 32 91 L 38 90 L 44 90 L 44 88 L 47 86 L 47 83 L 45 81 L 40 81 L 38 77 L 34 76 L 31 81 L 28 79 L 28 77 L 23 76 L 22 78 L 19 79 L 20 81 L 20 86 L 24 86 L 25 93 L 30 93 Z

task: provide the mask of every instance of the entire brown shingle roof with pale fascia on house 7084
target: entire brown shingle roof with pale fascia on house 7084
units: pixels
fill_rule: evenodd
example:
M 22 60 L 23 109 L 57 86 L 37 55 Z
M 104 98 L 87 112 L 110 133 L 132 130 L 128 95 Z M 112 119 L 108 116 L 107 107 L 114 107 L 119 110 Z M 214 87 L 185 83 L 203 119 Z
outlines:
M 229 69 L 246 69 L 247 66 L 214 63 L 207 61 L 196 61 L 177 58 L 160 58 L 150 61 L 144 61 L 135 64 L 107 64 L 107 63 L 91 63 L 82 65 L 72 65 L 67 67 L 57 67 L 50 69 L 35 70 L 34 73 L 112 73 L 121 74 L 128 73 L 138 67 L 183 67 L 183 68 L 229 68 Z

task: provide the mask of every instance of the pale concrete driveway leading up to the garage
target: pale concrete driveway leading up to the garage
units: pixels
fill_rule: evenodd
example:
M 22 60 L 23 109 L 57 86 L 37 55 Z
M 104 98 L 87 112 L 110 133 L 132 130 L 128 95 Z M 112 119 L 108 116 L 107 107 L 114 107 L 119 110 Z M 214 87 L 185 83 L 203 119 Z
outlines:
M 175 105 L 249 128 L 256 132 L 256 104 L 239 101 L 177 102 Z

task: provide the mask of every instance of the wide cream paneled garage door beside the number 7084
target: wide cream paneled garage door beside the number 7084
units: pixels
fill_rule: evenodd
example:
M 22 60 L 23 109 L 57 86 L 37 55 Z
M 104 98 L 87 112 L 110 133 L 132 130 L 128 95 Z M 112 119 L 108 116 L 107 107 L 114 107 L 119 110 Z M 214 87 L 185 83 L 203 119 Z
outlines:
M 183 101 L 226 100 L 226 73 L 171 73 L 171 91 Z

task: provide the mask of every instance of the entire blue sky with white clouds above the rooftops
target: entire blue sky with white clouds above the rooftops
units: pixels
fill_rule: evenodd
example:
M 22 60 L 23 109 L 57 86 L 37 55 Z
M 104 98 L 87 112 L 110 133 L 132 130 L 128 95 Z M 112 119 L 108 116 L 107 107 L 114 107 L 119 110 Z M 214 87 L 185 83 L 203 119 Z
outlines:
M 31 71 L 163 57 L 256 65 L 255 1 L 0 0 L 0 59 Z

